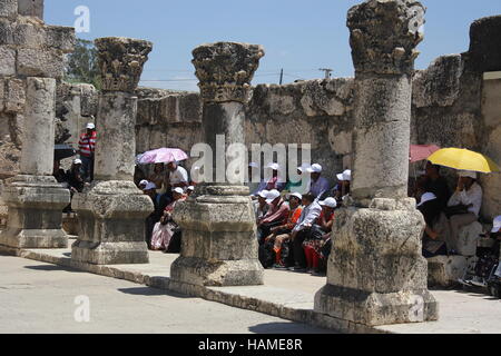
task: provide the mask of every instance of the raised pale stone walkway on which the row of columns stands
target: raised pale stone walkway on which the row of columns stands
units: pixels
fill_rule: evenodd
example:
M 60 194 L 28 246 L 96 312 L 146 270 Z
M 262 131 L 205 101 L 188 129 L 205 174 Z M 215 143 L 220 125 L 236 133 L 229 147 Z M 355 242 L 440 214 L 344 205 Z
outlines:
M 70 240 L 71 246 L 72 240 Z M 0 250 L 28 259 L 71 267 L 79 270 L 126 279 L 149 287 L 174 290 L 170 264 L 178 255 L 150 251 L 150 264 L 95 266 L 71 260 L 71 249 Z M 375 328 L 338 320 L 313 312 L 315 293 L 325 277 L 313 277 L 284 270 L 265 270 L 264 286 L 207 287 L 196 290 L 198 297 L 242 309 L 255 310 L 284 319 L 331 328 L 342 333 L 372 334 L 478 334 L 501 333 L 501 300 L 474 293 L 432 290 L 440 303 L 440 320 L 380 326 Z

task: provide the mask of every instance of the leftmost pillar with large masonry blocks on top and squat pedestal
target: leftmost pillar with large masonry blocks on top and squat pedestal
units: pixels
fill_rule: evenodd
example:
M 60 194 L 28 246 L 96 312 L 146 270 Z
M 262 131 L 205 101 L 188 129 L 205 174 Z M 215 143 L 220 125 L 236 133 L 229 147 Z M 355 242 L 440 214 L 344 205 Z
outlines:
M 9 207 L 0 245 L 14 248 L 66 247 L 61 209 L 69 191 L 52 177 L 56 81 L 75 30 L 46 26 L 42 1 L 0 2 L 0 151 L 8 171 L 2 199 Z M 30 145 L 22 145 L 29 141 Z M 20 158 L 18 158 L 20 157 Z

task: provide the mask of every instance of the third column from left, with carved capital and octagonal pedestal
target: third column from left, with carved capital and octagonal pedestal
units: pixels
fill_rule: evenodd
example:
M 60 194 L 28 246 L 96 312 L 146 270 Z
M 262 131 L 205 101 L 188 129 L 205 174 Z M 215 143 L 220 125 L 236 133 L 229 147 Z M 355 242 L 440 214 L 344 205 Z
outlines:
M 263 48 L 218 42 L 200 46 L 193 55 L 204 100 L 206 144 L 214 154 L 217 135 L 225 135 L 226 147 L 245 144 L 244 105 Z M 227 162 L 228 158 L 214 157 L 214 167 L 216 160 Z M 171 287 L 189 293 L 200 286 L 263 284 L 248 187 L 203 184 L 194 197 L 176 206 L 174 218 L 183 229 L 183 243 L 180 257 L 170 268 Z

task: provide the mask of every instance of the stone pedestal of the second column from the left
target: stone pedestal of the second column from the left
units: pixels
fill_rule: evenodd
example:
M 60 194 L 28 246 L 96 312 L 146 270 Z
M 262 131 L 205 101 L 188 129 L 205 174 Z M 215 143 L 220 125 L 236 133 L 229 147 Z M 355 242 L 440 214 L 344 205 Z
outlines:
M 96 181 L 73 197 L 79 236 L 71 259 L 92 265 L 148 264 L 145 220 L 151 199 L 131 181 Z

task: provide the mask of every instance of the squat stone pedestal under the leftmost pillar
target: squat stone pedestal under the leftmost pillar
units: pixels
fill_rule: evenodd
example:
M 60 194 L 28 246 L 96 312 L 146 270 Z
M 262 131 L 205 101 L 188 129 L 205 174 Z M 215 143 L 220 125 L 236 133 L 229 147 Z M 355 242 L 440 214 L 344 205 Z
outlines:
M 6 181 L 3 200 L 9 207 L 7 228 L 0 245 L 13 248 L 66 248 L 62 209 L 69 190 L 53 177 L 16 176 Z

